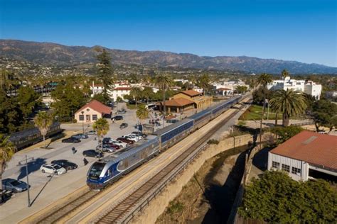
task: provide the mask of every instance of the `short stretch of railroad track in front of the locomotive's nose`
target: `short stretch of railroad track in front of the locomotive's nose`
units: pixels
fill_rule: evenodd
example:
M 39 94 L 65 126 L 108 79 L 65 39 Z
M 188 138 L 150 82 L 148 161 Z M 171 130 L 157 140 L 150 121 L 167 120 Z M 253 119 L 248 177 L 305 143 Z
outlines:
M 87 201 L 90 201 L 92 198 L 94 198 L 98 194 L 100 194 L 100 191 L 90 191 L 90 189 L 88 188 L 84 194 L 80 195 L 79 197 L 75 198 L 69 203 L 66 203 L 61 208 L 56 208 L 57 209 L 56 211 L 53 211 L 52 213 L 48 213 L 48 215 L 44 216 L 43 218 L 38 220 L 36 223 L 41 223 L 41 224 L 57 223 L 58 220 L 63 218 L 65 215 L 72 213 L 73 211 L 75 211 L 76 208 L 82 206 Z

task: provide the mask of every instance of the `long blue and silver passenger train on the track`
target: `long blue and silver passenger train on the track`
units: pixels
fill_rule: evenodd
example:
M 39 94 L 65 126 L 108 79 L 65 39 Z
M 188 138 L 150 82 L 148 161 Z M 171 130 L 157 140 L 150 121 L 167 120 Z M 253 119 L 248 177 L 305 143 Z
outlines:
M 90 189 L 103 189 L 117 181 L 119 177 L 131 172 L 161 151 L 166 150 L 189 133 L 202 127 L 242 99 L 236 96 L 204 111 L 193 114 L 177 123 L 148 135 L 145 140 L 135 143 L 124 150 L 98 160 L 87 172 L 87 185 Z

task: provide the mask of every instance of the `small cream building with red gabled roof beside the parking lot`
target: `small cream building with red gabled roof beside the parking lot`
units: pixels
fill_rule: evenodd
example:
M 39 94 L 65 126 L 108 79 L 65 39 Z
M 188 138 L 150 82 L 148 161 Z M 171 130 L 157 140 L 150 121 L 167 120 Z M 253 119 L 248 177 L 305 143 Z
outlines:
M 92 100 L 75 112 L 75 119 L 77 123 L 92 123 L 100 118 L 109 118 L 111 113 L 109 106 L 105 106 L 100 101 Z

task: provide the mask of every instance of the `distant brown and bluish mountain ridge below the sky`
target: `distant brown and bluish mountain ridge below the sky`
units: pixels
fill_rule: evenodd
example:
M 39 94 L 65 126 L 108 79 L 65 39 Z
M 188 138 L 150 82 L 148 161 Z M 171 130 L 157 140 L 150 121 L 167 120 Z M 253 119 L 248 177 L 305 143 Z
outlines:
M 95 63 L 95 47 L 65 46 L 23 40 L 0 40 L 0 57 L 24 60 L 39 65 L 79 65 Z M 98 46 L 99 47 L 99 46 Z M 291 74 L 337 74 L 337 67 L 306 64 L 296 61 L 261 59 L 257 57 L 198 56 L 164 51 L 114 50 L 105 48 L 116 65 L 145 65 L 196 69 L 230 69 L 245 72 L 279 74 L 287 69 Z

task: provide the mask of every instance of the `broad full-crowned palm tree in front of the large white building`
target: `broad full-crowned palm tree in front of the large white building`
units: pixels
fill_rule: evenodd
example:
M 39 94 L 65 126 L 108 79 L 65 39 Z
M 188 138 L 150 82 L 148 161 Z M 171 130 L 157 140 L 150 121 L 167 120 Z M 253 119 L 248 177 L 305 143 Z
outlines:
M 289 125 L 289 118 L 293 115 L 299 115 L 306 110 L 306 99 L 304 94 L 293 89 L 279 89 L 274 92 L 269 101 L 270 108 L 282 113 L 282 125 Z

